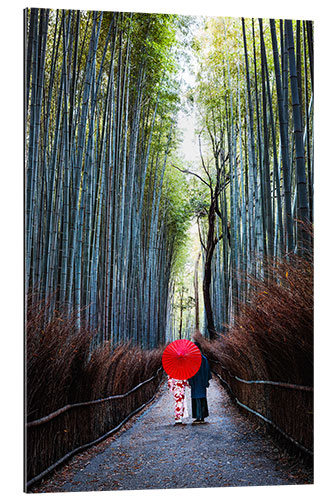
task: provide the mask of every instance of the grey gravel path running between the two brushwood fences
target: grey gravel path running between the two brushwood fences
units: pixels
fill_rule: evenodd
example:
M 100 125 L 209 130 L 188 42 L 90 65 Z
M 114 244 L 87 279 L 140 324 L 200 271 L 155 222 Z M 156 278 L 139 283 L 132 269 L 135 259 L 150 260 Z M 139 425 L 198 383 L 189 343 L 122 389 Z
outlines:
M 242 415 L 215 378 L 207 399 L 205 424 L 192 425 L 188 417 L 175 426 L 173 398 L 164 383 L 124 429 L 74 457 L 31 492 L 312 484 L 311 469 Z

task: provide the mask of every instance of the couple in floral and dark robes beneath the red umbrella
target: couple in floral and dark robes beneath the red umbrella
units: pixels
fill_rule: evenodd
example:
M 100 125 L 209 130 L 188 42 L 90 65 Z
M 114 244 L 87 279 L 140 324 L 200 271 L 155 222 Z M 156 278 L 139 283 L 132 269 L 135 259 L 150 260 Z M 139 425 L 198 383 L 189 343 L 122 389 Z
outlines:
M 200 350 L 200 344 L 194 342 Z M 207 358 L 202 354 L 201 350 L 201 365 L 199 371 L 188 380 L 177 380 L 168 377 L 168 387 L 171 390 L 175 401 L 175 424 L 182 424 L 182 418 L 187 417 L 185 407 L 185 387 L 191 388 L 192 400 L 192 418 L 193 424 L 205 423 L 205 418 L 208 417 L 208 405 L 206 390 L 209 387 L 209 381 L 212 378 L 210 367 Z

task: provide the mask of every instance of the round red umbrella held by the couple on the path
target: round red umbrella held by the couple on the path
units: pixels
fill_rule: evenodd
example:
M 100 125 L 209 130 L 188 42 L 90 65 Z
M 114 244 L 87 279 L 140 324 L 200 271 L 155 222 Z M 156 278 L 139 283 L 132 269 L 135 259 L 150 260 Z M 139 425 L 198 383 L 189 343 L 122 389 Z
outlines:
M 201 352 L 187 339 L 175 340 L 164 349 L 162 365 L 170 377 L 187 380 L 199 370 Z

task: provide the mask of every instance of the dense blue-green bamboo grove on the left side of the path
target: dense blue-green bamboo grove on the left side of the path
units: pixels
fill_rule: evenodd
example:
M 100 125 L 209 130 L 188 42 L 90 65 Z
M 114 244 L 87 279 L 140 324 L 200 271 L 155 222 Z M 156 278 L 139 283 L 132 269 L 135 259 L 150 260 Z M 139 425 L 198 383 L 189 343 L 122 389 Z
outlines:
M 65 308 L 97 344 L 165 341 L 188 221 L 168 170 L 187 22 L 26 11 L 27 307 Z

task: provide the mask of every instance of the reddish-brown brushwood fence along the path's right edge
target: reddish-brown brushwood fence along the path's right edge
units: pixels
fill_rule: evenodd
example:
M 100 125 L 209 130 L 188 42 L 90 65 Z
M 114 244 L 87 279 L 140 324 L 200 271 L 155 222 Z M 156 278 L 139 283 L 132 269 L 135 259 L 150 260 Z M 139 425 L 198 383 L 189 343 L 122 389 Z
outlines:
M 247 415 L 312 460 L 312 260 L 290 256 L 267 266 L 264 279 L 248 281 L 251 301 L 228 333 L 208 341 L 197 332 L 196 338 Z

